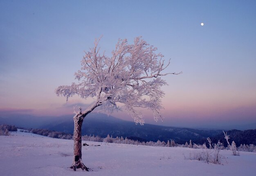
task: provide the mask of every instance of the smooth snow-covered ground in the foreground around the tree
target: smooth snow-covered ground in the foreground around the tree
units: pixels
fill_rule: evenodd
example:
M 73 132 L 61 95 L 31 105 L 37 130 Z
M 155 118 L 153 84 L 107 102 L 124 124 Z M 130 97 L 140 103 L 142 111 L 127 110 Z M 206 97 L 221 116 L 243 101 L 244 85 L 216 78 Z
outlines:
M 200 149 L 88 142 L 83 163 L 91 172 L 74 172 L 73 141 L 25 132 L 0 136 L 0 176 L 255 176 L 256 153 L 221 151 L 223 165 L 185 159 Z M 95 146 L 101 145 L 101 146 Z

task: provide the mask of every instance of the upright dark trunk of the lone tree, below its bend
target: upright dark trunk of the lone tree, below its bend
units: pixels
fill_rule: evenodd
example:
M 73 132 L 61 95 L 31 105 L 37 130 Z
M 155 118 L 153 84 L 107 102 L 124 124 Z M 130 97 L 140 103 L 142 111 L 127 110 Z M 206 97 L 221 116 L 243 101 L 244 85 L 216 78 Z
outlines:
M 74 118 L 74 158 L 71 169 L 85 169 L 86 171 L 89 171 L 89 168 L 86 167 L 83 164 L 82 161 L 82 124 L 83 119 L 80 119 L 79 117 L 75 116 Z

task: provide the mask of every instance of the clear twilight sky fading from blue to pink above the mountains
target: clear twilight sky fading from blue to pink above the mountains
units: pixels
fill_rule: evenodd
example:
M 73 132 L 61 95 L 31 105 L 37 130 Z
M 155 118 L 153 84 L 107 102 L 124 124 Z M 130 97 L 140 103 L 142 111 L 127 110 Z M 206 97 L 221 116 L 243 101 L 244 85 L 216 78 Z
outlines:
M 1 0 L 0 117 L 86 108 L 92 99 L 66 103 L 55 88 L 74 81 L 95 38 L 110 55 L 119 38 L 142 36 L 171 59 L 167 72 L 183 72 L 164 78 L 164 122 L 144 110 L 146 123 L 256 128 L 255 9 L 254 0 Z

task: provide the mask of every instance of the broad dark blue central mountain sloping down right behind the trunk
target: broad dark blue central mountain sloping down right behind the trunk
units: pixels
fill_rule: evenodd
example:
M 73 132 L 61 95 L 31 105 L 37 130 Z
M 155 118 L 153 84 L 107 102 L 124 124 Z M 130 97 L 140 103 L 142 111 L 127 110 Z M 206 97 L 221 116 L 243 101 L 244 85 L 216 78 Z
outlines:
M 74 122 L 71 118 L 68 121 L 43 128 L 49 130 L 74 132 Z M 194 130 L 190 128 L 175 128 L 161 125 L 136 125 L 131 121 L 124 121 L 105 114 L 89 114 L 83 121 L 82 134 L 98 135 L 106 137 L 108 134 L 113 137 L 123 136 L 130 139 L 139 138 L 141 141 L 168 141 L 173 139 L 176 143 L 186 143 L 191 139 L 193 142 L 212 137 L 222 132 L 221 130 Z

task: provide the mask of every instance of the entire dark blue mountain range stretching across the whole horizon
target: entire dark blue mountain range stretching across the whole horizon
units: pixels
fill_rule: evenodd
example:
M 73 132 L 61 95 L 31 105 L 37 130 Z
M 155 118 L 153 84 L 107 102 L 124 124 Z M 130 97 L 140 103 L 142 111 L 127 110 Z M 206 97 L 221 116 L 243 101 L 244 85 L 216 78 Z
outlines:
M 74 132 L 74 122 L 72 115 L 63 117 L 33 117 L 20 116 L 10 118 L 0 118 L 0 124 L 10 124 L 26 128 L 45 128 L 48 130 L 61 131 L 66 133 Z M 231 139 L 245 144 L 256 144 L 256 130 L 231 130 L 227 131 Z M 205 143 L 207 137 L 224 141 L 222 130 L 195 130 L 191 128 L 175 128 L 161 125 L 136 125 L 131 121 L 124 121 L 106 114 L 89 114 L 83 121 L 82 134 L 98 135 L 106 137 L 108 134 L 113 137 L 123 136 L 129 139 L 138 139 L 140 141 L 168 141 L 173 139 L 176 143 L 184 144 L 192 140 L 192 143 Z

